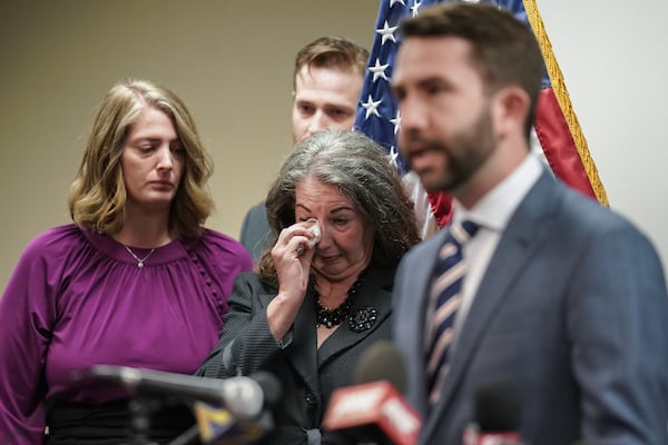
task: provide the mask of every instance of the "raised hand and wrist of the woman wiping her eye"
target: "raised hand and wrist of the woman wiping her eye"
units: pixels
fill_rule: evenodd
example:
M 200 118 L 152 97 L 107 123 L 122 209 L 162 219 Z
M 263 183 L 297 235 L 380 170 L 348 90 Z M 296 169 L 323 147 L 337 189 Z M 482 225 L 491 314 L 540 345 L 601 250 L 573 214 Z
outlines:
M 278 277 L 278 295 L 267 306 L 267 319 L 274 338 L 283 338 L 289 330 L 308 287 L 311 261 L 315 254 L 316 235 L 311 228 L 316 219 L 297 222 L 281 230 L 272 249 L 272 259 Z M 310 243 L 311 241 L 311 243 Z

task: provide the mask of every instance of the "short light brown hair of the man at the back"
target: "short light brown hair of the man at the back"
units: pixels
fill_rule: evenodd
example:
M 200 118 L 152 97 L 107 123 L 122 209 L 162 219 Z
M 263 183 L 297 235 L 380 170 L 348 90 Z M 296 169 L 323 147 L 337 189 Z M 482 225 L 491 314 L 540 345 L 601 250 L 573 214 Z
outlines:
M 304 66 L 356 71 L 364 77 L 367 61 L 369 51 L 351 39 L 337 36 L 321 37 L 306 44 L 297 53 L 293 82 Z

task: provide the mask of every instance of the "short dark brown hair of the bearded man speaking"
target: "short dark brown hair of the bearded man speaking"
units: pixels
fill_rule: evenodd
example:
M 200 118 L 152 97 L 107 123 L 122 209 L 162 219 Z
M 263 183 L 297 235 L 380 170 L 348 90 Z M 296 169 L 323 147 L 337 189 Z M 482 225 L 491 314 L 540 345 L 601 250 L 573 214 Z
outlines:
M 403 38 L 459 37 L 471 43 L 471 61 L 481 73 L 488 92 L 515 85 L 530 98 L 524 121 L 527 138 L 536 116 L 536 103 L 544 71 L 533 32 L 509 11 L 489 3 L 442 3 L 425 8 L 405 20 Z

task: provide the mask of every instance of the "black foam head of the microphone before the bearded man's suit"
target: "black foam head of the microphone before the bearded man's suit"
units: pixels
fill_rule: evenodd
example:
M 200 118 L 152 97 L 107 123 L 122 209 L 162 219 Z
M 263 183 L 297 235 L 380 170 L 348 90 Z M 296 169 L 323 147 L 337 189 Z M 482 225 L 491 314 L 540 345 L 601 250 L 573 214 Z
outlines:
M 478 388 L 474 396 L 475 423 L 482 432 L 517 432 L 521 400 L 517 383 L 499 378 Z

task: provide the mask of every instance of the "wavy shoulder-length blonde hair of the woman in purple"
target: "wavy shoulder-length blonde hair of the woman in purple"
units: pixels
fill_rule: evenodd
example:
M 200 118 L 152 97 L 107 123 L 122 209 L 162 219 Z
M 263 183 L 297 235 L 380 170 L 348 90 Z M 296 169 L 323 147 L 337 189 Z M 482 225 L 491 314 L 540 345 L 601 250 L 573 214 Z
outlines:
M 120 157 L 130 127 L 146 108 L 170 117 L 186 152 L 184 175 L 169 211 L 169 233 L 176 238 L 197 236 L 214 207 L 206 188 L 212 160 L 185 103 L 148 80 L 118 82 L 101 101 L 70 189 L 70 216 L 75 224 L 108 235 L 122 228 L 127 192 Z

